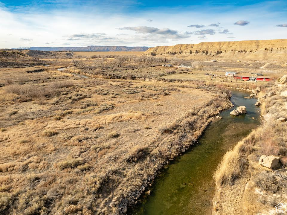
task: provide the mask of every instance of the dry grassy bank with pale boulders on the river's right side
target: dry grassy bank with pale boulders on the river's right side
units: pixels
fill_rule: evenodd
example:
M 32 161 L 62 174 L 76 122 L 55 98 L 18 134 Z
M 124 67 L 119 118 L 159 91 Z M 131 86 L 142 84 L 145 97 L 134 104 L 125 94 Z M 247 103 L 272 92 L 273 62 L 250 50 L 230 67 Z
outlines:
M 286 206 L 287 123 L 278 120 L 287 119 L 286 90 L 286 83 L 274 83 L 260 92 L 264 122 L 225 154 L 214 174 L 214 215 L 277 214 L 276 205 Z M 261 155 L 279 156 L 281 166 L 260 166 Z

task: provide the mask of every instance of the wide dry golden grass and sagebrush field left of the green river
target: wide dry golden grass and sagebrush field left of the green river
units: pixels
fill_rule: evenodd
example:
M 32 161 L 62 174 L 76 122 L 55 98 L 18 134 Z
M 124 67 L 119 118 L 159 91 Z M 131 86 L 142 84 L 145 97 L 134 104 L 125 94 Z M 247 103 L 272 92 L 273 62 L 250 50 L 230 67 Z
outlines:
M 257 86 L 182 79 L 204 63 L 100 54 L 0 68 L 0 214 L 120 214 L 230 107 L 224 86 Z

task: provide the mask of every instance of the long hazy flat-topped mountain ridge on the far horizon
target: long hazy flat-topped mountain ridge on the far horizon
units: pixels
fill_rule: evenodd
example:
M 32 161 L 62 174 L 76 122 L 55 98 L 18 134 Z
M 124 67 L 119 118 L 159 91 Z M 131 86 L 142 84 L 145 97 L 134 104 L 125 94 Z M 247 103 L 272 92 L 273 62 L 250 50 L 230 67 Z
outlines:
M 37 51 L 146 51 L 146 46 L 102 46 L 90 45 L 82 47 L 30 47 L 29 50 Z

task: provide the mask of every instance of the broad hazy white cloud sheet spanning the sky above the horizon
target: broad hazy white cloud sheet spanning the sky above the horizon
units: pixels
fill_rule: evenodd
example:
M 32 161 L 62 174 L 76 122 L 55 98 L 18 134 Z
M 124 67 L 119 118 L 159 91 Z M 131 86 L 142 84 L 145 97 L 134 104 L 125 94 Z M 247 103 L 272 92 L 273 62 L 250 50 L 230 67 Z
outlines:
M 155 8 L 125 14 L 113 11 L 106 14 L 108 12 L 103 12 L 106 10 L 102 7 L 89 8 L 89 10 L 78 10 L 78 8 L 67 10 L 61 7 L 48 12 L 32 10 L 28 13 L 25 11 L 29 9 L 26 6 L 17 12 L 12 12 L 0 4 L 0 31 L 5 32 L 0 33 L 0 48 L 27 47 L 28 43 L 31 46 L 52 44 L 54 47 L 174 45 L 188 44 L 191 41 L 201 42 L 201 39 L 206 37 L 199 36 L 207 35 L 209 35 L 208 41 L 224 41 L 226 36 L 230 36 L 228 32 L 232 32 L 236 40 L 285 38 L 285 28 L 281 27 L 285 27 L 286 24 L 277 25 L 278 22 L 285 20 L 285 14 L 269 9 L 275 6 L 282 7 L 282 1 L 267 1 L 264 5 L 234 7 L 232 10 L 223 10 L 224 7 L 210 6 L 202 9 L 194 6 L 178 7 L 173 10 Z M 190 26 L 190 19 L 178 22 L 178 17 L 183 13 L 186 17 L 192 17 L 193 23 L 202 24 L 198 26 L 209 26 L 209 28 L 212 26 L 216 30 L 196 28 L 196 26 L 187 27 Z M 238 24 L 244 25 L 242 22 L 234 25 L 231 20 L 240 21 L 242 14 L 244 14 L 244 20 L 248 20 L 246 22 L 252 23 L 252 26 L 245 25 L 244 28 L 239 28 Z M 153 21 L 148 22 L 146 17 L 152 17 Z M 213 21 L 214 17 L 216 22 Z M 219 25 L 218 22 L 220 26 L 216 26 Z M 129 29 L 120 30 L 120 27 Z M 190 31 L 191 29 L 193 30 Z M 228 32 L 225 31 L 226 29 Z

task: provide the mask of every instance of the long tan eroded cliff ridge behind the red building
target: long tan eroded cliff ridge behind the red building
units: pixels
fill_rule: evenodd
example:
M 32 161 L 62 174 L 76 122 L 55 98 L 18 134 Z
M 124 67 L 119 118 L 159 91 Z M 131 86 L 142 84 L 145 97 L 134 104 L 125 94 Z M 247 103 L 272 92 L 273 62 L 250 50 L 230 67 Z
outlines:
M 246 40 L 233 42 L 201 42 L 149 48 L 144 55 L 182 55 L 205 57 L 235 57 L 246 59 L 287 59 L 287 39 Z

